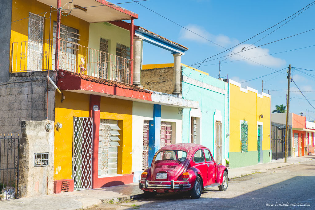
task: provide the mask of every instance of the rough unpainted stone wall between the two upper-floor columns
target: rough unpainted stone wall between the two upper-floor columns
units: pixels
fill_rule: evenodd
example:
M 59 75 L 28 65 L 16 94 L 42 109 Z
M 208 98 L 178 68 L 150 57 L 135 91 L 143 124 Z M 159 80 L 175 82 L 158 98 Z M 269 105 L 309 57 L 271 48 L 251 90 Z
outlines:
M 140 82 L 144 89 L 173 93 L 173 67 L 141 70 Z

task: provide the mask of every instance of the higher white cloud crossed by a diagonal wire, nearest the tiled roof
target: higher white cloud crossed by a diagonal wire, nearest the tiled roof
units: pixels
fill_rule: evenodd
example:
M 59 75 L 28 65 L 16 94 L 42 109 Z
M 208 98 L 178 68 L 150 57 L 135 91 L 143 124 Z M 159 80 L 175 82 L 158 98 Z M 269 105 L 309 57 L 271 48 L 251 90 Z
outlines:
M 231 39 L 228 36 L 225 36 L 223 34 L 218 34 L 218 35 L 214 35 L 209 33 L 207 30 L 205 30 L 203 27 L 198 26 L 198 25 L 187 25 L 185 26 L 187 29 L 195 32 L 196 34 L 203 36 L 204 38 L 207 38 L 223 47 L 226 46 L 230 46 L 232 44 L 236 44 L 238 42 L 237 39 Z M 197 41 L 200 43 L 209 43 L 211 44 L 211 42 L 209 42 L 208 40 L 190 32 L 189 30 L 186 29 L 181 29 L 180 30 L 180 39 L 188 39 L 191 41 Z

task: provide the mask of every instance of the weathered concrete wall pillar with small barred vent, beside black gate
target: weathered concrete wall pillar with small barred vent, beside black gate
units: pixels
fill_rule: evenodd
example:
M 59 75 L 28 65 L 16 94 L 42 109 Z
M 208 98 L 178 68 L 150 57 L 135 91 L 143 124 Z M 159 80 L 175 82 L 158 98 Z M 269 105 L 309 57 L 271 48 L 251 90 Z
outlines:
M 54 121 L 22 121 L 19 155 L 19 194 L 21 197 L 52 194 L 54 190 Z M 34 167 L 34 153 L 49 152 L 48 166 Z

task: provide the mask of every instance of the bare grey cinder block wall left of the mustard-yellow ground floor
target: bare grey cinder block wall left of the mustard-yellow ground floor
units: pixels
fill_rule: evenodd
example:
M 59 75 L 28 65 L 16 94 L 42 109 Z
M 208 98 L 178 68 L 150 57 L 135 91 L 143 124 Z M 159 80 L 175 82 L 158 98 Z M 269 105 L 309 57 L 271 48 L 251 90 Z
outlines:
M 53 81 L 56 73 L 50 71 Z M 54 120 L 55 89 L 49 83 L 48 119 Z M 46 119 L 47 71 L 11 73 L 0 83 L 0 133 L 20 133 L 21 120 Z

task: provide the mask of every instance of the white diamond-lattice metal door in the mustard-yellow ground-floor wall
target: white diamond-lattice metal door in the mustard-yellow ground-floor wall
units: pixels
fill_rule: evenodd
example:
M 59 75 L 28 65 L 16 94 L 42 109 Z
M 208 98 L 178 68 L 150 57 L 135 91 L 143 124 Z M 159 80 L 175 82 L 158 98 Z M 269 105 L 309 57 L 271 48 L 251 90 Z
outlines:
M 73 117 L 72 178 L 74 190 L 92 188 L 93 118 Z

